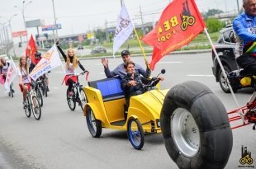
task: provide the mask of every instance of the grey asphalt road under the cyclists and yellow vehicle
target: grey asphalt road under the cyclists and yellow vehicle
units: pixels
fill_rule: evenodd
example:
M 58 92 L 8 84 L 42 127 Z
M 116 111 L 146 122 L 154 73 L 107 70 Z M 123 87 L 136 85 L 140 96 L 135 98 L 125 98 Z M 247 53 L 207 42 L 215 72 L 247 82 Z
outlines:
M 142 57 L 134 57 L 135 63 L 144 65 Z M 81 60 L 90 71 L 89 80 L 104 78 L 100 59 Z M 120 58 L 109 59 L 110 67 L 121 63 Z M 211 54 L 173 54 L 159 62 L 152 73 L 157 75 L 166 69 L 162 88 L 170 88 L 189 80 L 202 82 L 220 98 L 226 110 L 235 109 L 230 94 L 221 91 L 211 73 Z M 50 93 L 44 98 L 39 121 L 26 118 L 21 104 L 17 79 L 15 96 L 7 96 L 0 87 L 0 169 L 65 169 L 65 168 L 178 168 L 168 157 L 161 134 L 145 136 L 141 151 L 132 148 L 126 132 L 102 129 L 101 138 L 92 138 L 80 107 L 71 111 L 66 102 L 66 88 L 61 85 L 64 73 L 55 68 L 50 73 Z M 86 85 L 85 78 L 81 78 Z M 244 105 L 252 90 L 236 94 L 239 105 Z M 233 150 L 226 169 L 239 168 L 241 146 L 247 146 L 256 167 L 256 131 L 252 125 L 233 130 Z

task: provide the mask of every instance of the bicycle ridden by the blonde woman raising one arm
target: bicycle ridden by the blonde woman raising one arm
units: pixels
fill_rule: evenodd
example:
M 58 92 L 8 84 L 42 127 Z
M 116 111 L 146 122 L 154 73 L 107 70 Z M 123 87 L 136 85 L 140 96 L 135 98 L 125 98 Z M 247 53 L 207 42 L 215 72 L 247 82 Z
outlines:
M 67 89 L 67 101 L 70 110 L 75 110 L 77 102 L 78 106 L 81 106 L 82 110 L 84 110 L 84 106 L 87 103 L 87 97 L 85 92 L 83 91 L 83 85 L 80 84 L 78 80 L 78 77 L 81 75 L 84 75 L 84 73 L 67 75 L 68 77 L 71 77 L 74 80 L 71 89 L 71 92 L 73 92 L 72 96 L 69 96 L 69 89 Z

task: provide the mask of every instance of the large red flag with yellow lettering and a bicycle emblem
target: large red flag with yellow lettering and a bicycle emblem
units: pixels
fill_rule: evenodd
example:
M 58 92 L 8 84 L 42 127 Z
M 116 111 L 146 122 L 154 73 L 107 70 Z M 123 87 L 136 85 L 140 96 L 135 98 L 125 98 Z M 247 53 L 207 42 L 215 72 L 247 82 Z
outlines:
M 142 39 L 146 44 L 154 46 L 150 68 L 165 54 L 187 45 L 203 29 L 205 23 L 194 0 L 173 0 L 149 34 Z

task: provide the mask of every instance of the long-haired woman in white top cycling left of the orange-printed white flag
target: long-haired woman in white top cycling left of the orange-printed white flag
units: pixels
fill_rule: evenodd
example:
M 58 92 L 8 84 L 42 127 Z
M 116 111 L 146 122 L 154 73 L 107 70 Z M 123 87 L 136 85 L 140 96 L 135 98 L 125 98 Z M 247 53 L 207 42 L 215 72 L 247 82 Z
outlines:
M 23 92 L 23 106 L 26 106 L 26 93 L 29 90 L 31 79 L 29 77 L 28 64 L 25 56 L 21 57 L 19 60 L 18 73 L 20 79 L 19 86 L 21 92 Z

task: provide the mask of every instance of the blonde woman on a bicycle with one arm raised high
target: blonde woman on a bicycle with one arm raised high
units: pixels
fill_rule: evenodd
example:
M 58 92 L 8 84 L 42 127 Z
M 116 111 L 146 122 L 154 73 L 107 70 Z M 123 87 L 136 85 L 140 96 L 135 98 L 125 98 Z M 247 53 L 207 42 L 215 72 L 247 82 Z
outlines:
M 59 40 L 56 42 L 57 48 L 59 49 L 59 52 L 62 54 L 65 63 L 66 63 L 66 76 L 64 78 L 65 84 L 68 85 L 68 90 L 69 90 L 69 96 L 73 96 L 72 92 L 72 86 L 73 82 L 76 80 L 73 77 L 70 77 L 69 75 L 72 75 L 75 73 L 75 68 L 78 66 L 83 70 L 83 72 L 88 72 L 83 68 L 83 65 L 79 62 L 76 54 L 74 53 L 74 50 L 72 48 L 69 48 L 67 50 L 67 54 L 64 54 L 64 51 L 60 48 L 59 46 Z

